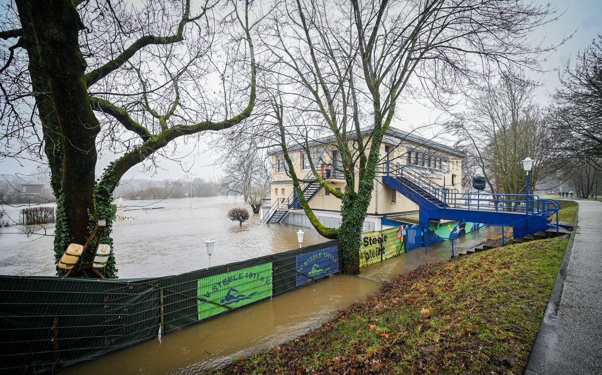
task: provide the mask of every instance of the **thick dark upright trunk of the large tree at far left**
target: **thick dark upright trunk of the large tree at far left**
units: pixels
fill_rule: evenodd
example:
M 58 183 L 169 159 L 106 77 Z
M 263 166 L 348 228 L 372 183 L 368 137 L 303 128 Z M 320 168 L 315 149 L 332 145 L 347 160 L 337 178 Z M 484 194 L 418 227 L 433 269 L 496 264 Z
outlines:
M 17 0 L 16 4 L 44 127 L 52 189 L 59 215 L 66 216 L 57 223 L 58 254 L 69 242 L 84 244 L 97 219 L 95 143 L 100 125 L 88 98 L 86 63 L 78 42 L 83 26 L 73 2 Z

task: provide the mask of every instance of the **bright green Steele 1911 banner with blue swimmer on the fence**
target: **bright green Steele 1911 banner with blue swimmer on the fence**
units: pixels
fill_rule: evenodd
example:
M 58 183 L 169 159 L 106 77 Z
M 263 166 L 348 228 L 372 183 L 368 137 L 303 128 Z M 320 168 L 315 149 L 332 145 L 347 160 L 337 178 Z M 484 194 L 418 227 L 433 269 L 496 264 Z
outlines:
M 272 263 L 197 280 L 199 320 L 272 295 Z

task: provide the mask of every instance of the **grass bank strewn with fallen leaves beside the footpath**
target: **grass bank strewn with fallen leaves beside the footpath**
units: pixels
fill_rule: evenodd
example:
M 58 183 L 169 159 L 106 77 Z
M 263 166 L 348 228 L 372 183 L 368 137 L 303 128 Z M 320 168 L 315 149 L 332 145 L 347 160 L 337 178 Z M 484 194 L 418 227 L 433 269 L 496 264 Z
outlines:
M 320 329 L 214 373 L 521 374 L 566 244 L 421 266 Z

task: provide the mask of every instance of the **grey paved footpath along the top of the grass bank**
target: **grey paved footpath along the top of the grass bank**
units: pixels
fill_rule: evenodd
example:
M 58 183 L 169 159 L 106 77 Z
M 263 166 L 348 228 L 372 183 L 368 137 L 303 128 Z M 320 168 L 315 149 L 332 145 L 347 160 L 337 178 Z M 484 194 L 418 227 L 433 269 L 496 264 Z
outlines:
M 602 203 L 577 202 L 564 282 L 554 286 L 527 375 L 602 374 Z

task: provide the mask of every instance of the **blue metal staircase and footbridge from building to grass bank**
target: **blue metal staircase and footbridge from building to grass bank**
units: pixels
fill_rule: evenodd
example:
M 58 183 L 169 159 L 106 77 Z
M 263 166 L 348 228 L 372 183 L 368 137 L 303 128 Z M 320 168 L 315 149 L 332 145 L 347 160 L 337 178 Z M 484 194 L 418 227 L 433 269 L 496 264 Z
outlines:
M 460 193 L 424 178 L 411 168 L 386 171 L 382 181 L 420 207 L 420 227 L 428 228 L 431 220 L 447 219 L 503 225 L 514 229 L 514 238 L 532 235 L 549 228 L 558 231 L 548 220 L 558 213 L 555 200 L 541 199 L 535 194 Z

